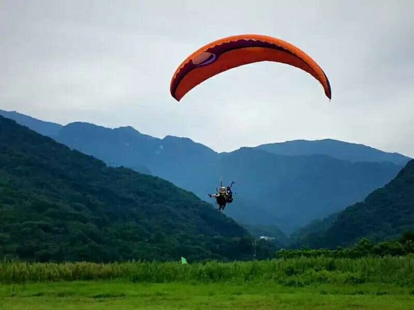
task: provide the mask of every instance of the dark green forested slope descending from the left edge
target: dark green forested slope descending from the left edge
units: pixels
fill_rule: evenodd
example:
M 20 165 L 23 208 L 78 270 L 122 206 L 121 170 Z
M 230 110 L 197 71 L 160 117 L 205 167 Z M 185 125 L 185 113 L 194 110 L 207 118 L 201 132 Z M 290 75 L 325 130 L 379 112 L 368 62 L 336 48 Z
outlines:
M 251 256 L 245 229 L 165 180 L 107 167 L 2 116 L 0 151 L 0 257 Z

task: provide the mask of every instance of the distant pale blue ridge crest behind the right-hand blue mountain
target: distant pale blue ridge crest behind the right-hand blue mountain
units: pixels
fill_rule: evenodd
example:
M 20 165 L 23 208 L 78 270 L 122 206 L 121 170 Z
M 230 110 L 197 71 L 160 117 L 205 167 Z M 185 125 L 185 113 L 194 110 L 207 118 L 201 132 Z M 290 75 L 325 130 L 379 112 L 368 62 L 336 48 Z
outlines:
M 295 140 L 283 143 L 269 143 L 255 147 L 264 149 L 268 152 L 288 155 L 288 156 L 307 156 L 307 155 L 328 155 L 344 161 L 367 161 L 383 162 L 388 161 L 395 165 L 404 166 L 411 158 L 397 153 L 386 153 L 373 147 L 362 144 L 348 143 L 333 139 L 318 141 Z

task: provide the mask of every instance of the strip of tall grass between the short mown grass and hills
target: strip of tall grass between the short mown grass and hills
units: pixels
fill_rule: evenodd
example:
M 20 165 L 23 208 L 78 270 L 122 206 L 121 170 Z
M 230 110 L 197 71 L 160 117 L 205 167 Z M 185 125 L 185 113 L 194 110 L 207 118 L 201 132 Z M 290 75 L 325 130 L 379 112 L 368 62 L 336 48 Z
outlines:
M 1 283 L 126 280 L 132 282 L 268 282 L 303 287 L 313 283 L 382 282 L 414 287 L 414 256 L 292 258 L 250 262 L 1 262 Z

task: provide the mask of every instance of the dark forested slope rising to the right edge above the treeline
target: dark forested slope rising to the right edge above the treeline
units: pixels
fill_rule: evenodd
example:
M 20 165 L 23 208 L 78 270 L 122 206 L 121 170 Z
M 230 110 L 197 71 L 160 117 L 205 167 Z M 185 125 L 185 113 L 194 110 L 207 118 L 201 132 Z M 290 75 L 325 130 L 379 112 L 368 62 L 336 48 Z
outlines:
M 386 186 L 340 212 L 332 225 L 304 243 L 316 247 L 352 245 L 358 238 L 375 241 L 414 230 L 414 160 Z

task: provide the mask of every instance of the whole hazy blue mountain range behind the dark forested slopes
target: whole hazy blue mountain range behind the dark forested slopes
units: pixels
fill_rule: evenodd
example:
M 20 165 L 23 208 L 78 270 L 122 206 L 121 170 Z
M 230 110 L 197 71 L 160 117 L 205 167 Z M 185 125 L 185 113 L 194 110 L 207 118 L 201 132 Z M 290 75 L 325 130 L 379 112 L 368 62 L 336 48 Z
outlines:
M 291 234 L 362 201 L 392 180 L 411 158 L 331 139 L 288 141 L 218 153 L 189 138 L 155 138 L 132 127 L 59 125 L 0 112 L 111 166 L 159 176 L 208 200 L 219 180 L 235 180 L 225 213 L 242 225 L 275 225 Z

